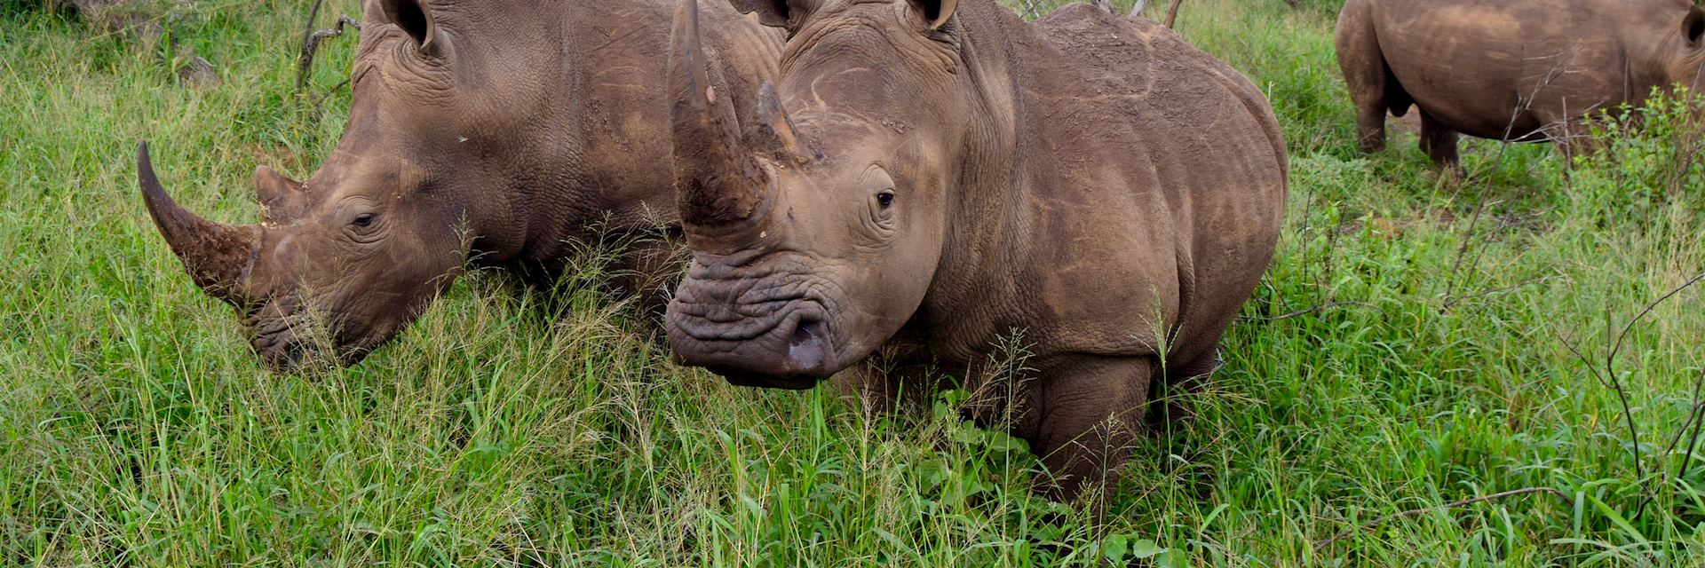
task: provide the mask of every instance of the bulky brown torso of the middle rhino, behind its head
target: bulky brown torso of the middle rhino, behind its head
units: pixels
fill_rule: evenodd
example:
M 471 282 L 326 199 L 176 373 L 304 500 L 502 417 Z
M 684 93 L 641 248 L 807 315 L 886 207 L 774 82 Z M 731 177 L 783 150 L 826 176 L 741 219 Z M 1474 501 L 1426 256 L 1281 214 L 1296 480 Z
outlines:
M 1030 27 L 1030 254 L 1050 259 L 1033 317 L 1071 322 L 1055 338 L 1072 351 L 1153 353 L 1163 327 L 1171 355 L 1212 350 L 1282 222 L 1272 111 L 1246 78 L 1154 22 L 1078 5 Z

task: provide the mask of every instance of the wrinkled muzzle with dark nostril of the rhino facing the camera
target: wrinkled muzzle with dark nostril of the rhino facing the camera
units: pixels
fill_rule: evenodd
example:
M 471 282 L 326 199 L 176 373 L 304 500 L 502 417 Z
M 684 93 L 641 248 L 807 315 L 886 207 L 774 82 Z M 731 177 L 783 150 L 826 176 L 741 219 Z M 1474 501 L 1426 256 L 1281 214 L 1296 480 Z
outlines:
M 684 281 L 665 319 L 677 360 L 733 385 L 789 391 L 839 370 L 829 302 L 796 278 L 779 280 Z

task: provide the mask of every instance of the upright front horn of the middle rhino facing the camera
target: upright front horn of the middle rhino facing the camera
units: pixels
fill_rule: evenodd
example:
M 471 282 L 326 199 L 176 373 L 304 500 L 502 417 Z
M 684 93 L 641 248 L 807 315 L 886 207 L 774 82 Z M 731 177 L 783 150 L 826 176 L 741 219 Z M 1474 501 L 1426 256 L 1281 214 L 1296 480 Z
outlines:
M 697 0 L 680 0 L 668 41 L 680 218 L 694 229 L 750 220 L 764 205 L 769 176 L 743 154 L 731 104 L 711 85 L 699 44 Z

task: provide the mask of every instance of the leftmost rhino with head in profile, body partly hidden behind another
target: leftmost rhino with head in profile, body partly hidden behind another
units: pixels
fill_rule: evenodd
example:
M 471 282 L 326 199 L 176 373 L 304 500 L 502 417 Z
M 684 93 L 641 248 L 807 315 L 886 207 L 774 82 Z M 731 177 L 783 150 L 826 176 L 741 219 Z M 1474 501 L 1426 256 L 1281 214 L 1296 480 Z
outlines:
M 266 363 L 355 363 L 464 264 L 552 281 L 598 232 L 679 230 L 673 177 L 658 167 L 672 7 L 368 0 L 348 126 L 319 172 L 298 183 L 256 169 L 261 223 L 228 227 L 174 203 L 143 147 L 148 213 L 194 281 L 246 314 Z M 711 17 L 728 55 L 718 84 L 755 90 L 783 34 L 733 9 Z M 621 268 L 677 275 L 677 249 L 641 247 Z M 627 292 L 656 288 L 662 312 L 667 287 L 627 280 Z M 314 350 L 324 343 L 309 326 L 329 331 L 334 353 Z

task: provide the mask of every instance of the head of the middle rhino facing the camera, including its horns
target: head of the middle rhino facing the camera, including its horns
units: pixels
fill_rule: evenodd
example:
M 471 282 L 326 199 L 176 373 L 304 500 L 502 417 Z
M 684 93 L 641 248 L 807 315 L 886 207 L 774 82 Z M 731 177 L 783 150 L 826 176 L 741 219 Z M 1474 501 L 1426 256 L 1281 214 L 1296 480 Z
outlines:
M 737 128 L 730 97 L 708 87 L 697 2 L 680 3 L 675 189 L 694 254 L 665 326 L 685 363 L 738 385 L 805 389 L 919 310 L 958 164 L 987 157 L 965 150 L 979 123 L 953 0 L 733 3 L 789 41 L 779 84 Z

